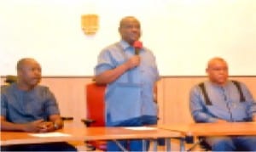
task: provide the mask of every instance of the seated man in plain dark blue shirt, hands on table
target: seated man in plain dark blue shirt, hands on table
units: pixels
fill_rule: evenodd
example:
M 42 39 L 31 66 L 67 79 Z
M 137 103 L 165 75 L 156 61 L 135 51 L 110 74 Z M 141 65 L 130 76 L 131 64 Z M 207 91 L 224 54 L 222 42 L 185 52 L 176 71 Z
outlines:
M 1 90 L 1 131 L 53 132 L 63 127 L 60 111 L 48 87 L 39 86 L 41 67 L 34 59 L 20 59 L 17 82 Z M 3 146 L 10 151 L 76 151 L 67 143 Z

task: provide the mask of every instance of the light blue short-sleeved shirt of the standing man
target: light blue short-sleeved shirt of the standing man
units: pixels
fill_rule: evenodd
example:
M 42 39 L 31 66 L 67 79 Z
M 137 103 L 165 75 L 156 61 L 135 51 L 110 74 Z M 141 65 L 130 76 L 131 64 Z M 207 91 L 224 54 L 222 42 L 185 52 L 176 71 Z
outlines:
M 139 55 L 140 65 L 127 70 L 106 89 L 106 112 L 114 122 L 157 113 L 153 88 L 160 76 L 154 54 L 148 48 L 142 48 Z M 134 48 L 127 42 L 114 43 L 99 54 L 96 75 L 124 64 L 132 56 Z

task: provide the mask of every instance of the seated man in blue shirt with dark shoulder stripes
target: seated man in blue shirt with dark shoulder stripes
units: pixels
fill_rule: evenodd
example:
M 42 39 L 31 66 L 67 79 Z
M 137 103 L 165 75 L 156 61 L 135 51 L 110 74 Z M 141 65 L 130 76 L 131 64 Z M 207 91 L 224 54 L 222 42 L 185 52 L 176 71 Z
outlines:
M 256 121 L 252 94 L 243 83 L 228 80 L 228 65 L 224 59 L 211 59 L 207 75 L 209 81 L 190 91 L 190 112 L 196 122 Z M 253 136 L 209 137 L 206 142 L 212 151 L 256 151 Z

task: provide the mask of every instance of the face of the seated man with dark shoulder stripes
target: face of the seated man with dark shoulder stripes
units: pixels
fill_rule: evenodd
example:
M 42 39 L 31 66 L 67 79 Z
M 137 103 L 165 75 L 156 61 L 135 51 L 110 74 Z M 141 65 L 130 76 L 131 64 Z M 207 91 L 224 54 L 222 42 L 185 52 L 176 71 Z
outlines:
M 228 65 L 223 60 L 213 60 L 208 65 L 207 74 L 211 82 L 224 85 L 229 76 Z

